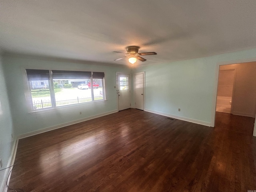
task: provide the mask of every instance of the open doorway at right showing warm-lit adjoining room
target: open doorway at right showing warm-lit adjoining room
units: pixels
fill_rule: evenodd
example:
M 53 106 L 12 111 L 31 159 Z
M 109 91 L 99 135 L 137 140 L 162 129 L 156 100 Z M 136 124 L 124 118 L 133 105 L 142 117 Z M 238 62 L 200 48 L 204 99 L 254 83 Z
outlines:
M 233 72 L 234 75 L 232 74 Z M 254 121 L 256 116 L 256 62 L 219 65 L 218 76 L 218 89 L 216 93 L 217 113 L 219 111 L 236 116 L 247 116 Z M 222 82 L 222 76 L 229 79 L 229 82 Z M 232 79 L 234 80 L 233 84 Z M 220 106 L 222 104 L 224 110 L 221 111 Z M 217 117 L 218 115 L 215 116 L 214 114 L 215 120 Z M 254 126 L 253 135 L 256 136 L 256 126 Z

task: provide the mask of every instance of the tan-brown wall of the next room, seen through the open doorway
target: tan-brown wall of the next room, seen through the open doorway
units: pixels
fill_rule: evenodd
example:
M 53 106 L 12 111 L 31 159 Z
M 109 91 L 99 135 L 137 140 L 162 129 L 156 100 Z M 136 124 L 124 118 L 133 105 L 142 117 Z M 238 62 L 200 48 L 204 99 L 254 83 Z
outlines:
M 232 114 L 255 118 L 256 62 L 220 66 L 220 70 L 236 69 Z

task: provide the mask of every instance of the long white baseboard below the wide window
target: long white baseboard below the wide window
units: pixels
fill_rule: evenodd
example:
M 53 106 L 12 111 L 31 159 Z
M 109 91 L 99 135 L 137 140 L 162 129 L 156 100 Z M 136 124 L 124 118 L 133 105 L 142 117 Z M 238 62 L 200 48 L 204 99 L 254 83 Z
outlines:
M 66 127 L 66 126 L 69 126 L 69 125 L 73 125 L 73 124 L 76 124 L 76 123 L 88 121 L 88 120 L 91 120 L 91 119 L 95 119 L 95 118 L 102 117 L 102 116 L 109 115 L 109 114 L 116 113 L 116 112 L 118 112 L 118 110 L 113 110 L 113 111 L 97 114 L 97 115 L 94 115 L 94 116 L 78 119 L 78 120 L 75 120 L 75 121 L 67 122 L 67 123 L 64 123 L 64 124 L 59 124 L 59 125 L 56 125 L 56 126 L 47 127 L 47 128 L 44 128 L 44 129 L 40 129 L 40 130 L 32 131 L 32 132 L 29 132 L 29 133 L 21 134 L 21 135 L 18 136 L 18 138 L 21 139 L 21 138 L 30 137 L 30 136 L 33 136 L 33 135 L 48 132 L 48 131 L 51 131 L 51 130 L 54 130 L 54 129 L 59 129 L 59 128 Z

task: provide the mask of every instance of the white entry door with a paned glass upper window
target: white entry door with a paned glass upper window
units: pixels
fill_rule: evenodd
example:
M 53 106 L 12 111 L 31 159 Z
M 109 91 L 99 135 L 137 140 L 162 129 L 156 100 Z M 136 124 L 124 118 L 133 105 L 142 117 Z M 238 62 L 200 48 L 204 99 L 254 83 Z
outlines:
M 130 74 L 117 74 L 118 110 L 131 108 Z

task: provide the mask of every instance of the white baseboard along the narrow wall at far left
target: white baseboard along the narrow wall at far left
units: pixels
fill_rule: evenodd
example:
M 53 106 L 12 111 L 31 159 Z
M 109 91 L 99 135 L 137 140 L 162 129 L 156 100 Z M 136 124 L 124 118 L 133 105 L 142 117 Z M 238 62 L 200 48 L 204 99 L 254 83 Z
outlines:
M 14 140 L 14 143 L 13 143 L 13 146 L 12 146 L 11 156 L 9 158 L 7 167 L 12 166 L 14 164 L 15 157 L 16 157 L 16 152 L 17 152 L 17 147 L 18 147 L 18 139 Z M 11 170 L 12 170 L 12 167 L 5 170 L 4 180 L 2 182 L 2 186 L 0 186 L 0 191 L 2 191 L 2 192 L 7 192 L 8 191 L 8 188 L 6 186 L 6 181 L 7 181 L 7 184 L 9 185 L 10 178 L 11 178 L 11 175 L 12 175 L 12 173 L 10 173 Z M 9 175 L 9 173 L 10 173 L 10 175 Z M 8 178 L 8 175 L 9 175 L 9 178 Z

